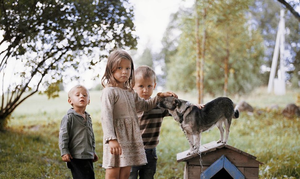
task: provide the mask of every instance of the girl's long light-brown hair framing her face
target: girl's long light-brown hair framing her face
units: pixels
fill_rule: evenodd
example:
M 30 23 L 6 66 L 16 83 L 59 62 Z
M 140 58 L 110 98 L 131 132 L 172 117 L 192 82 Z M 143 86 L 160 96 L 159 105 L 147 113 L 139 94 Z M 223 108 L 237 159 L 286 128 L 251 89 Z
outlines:
M 131 56 L 124 50 L 114 50 L 108 56 L 105 73 L 101 79 L 101 84 L 105 86 L 117 86 L 117 81 L 113 76 L 113 73 L 117 70 L 122 59 L 127 59 L 131 63 L 131 74 L 129 79 L 124 82 L 124 87 L 128 90 L 133 90 L 134 86 L 134 67 Z

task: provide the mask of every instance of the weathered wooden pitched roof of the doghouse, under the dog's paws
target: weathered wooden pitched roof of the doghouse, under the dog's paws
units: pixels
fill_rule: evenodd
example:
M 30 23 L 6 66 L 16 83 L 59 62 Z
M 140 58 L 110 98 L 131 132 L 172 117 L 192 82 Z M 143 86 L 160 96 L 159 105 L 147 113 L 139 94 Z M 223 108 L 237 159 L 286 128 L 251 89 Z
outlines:
M 243 151 L 241 151 L 241 150 L 239 150 L 239 149 L 237 149 L 237 148 L 234 148 L 234 147 L 232 147 L 232 146 L 230 146 L 230 145 L 223 144 L 223 143 L 217 143 L 216 141 L 212 141 L 212 142 L 210 142 L 210 143 L 208 143 L 208 144 L 201 145 L 199 151 L 201 152 L 202 155 L 205 155 L 205 154 L 207 154 L 207 153 L 209 153 L 209 152 L 213 152 L 213 151 L 215 151 L 215 150 L 217 150 L 217 149 L 224 148 L 224 147 L 225 147 L 225 148 L 228 148 L 228 149 L 230 149 L 230 150 L 233 150 L 233 151 L 235 151 L 235 152 L 238 152 L 238 153 L 240 153 L 240 154 L 242 154 L 242 155 L 245 155 L 245 156 L 247 156 L 247 157 L 249 157 L 249 158 L 252 158 L 252 159 L 254 159 L 254 160 L 256 159 L 256 156 L 253 156 L 253 155 L 251 155 L 251 154 L 248 154 L 248 153 L 246 153 L 246 152 L 243 152 Z M 186 151 L 184 151 L 184 152 L 178 153 L 178 154 L 177 154 L 177 162 L 186 161 L 186 160 L 189 160 L 189 159 L 191 159 L 191 158 L 194 158 L 194 157 L 199 156 L 197 153 L 192 154 L 192 155 L 187 155 L 187 153 L 188 153 L 189 151 L 190 151 L 190 150 L 186 150 Z M 259 161 L 258 161 L 258 162 L 259 162 Z M 261 162 L 259 162 L 259 163 L 261 163 Z M 261 164 L 263 164 L 263 163 L 261 163 Z

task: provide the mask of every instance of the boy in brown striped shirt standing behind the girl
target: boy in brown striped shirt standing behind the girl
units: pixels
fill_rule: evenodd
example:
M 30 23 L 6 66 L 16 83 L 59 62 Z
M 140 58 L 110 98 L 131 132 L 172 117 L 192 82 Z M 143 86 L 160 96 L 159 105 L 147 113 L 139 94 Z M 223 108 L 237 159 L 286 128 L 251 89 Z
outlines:
M 139 97 L 149 99 L 155 86 L 156 74 L 153 69 L 142 65 L 135 70 L 135 86 L 133 89 L 139 94 Z M 137 179 L 138 176 L 143 179 L 153 179 L 156 172 L 156 146 L 159 142 L 162 119 L 171 115 L 168 110 L 159 107 L 149 111 L 137 111 L 137 115 L 148 164 L 132 166 L 129 179 Z

